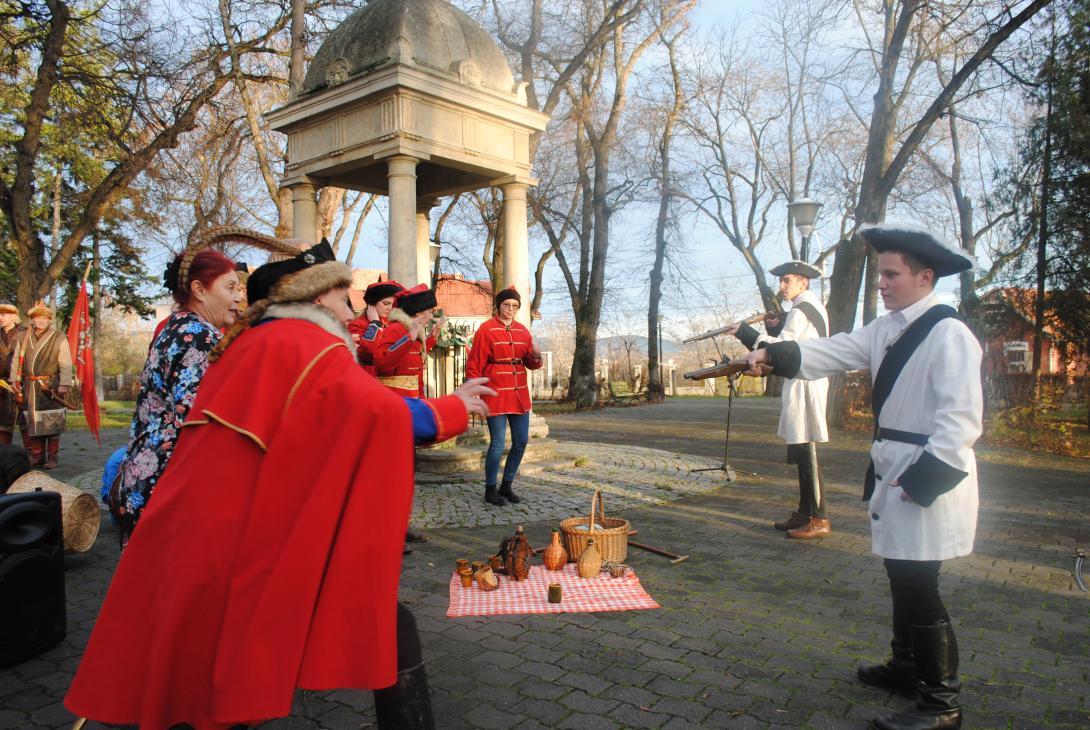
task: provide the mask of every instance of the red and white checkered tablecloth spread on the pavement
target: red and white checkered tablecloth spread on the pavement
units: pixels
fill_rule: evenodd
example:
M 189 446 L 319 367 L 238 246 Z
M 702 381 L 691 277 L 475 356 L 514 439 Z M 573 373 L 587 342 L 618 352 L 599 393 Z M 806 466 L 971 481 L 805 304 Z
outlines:
M 482 591 L 474 583 L 463 588 L 457 573 L 450 579 L 450 607 L 447 617 L 499 616 L 504 613 L 577 613 L 580 611 L 629 611 L 642 608 L 659 608 L 655 599 L 640 585 L 634 572 L 625 577 L 610 577 L 600 573 L 597 577 L 579 577 L 576 564 L 568 563 L 564 570 L 548 571 L 542 565 L 530 569 L 525 581 L 512 581 L 498 575 L 499 587 Z M 559 583 L 564 599 L 559 604 L 548 603 L 549 583 Z

